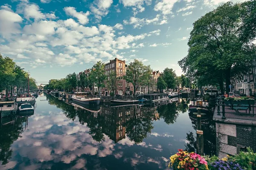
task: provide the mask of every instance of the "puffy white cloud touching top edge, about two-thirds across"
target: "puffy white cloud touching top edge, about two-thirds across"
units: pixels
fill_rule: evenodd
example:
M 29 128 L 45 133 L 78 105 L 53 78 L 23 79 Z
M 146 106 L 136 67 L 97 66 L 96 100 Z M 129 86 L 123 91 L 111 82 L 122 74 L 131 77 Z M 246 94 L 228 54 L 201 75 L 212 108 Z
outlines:
M 172 8 L 179 0 L 160 0 L 155 6 L 155 11 L 160 11 L 162 14 L 172 14 Z

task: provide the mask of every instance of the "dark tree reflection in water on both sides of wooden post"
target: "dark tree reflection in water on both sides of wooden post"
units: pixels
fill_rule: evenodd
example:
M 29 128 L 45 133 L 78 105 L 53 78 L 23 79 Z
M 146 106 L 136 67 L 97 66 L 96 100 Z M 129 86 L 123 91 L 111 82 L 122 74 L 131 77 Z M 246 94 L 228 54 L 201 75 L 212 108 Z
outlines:
M 197 122 L 192 121 L 192 127 L 196 131 Z M 204 131 L 204 153 L 206 155 L 216 155 L 216 128 L 215 122 L 209 120 L 209 124 L 202 124 L 202 130 Z M 194 133 L 187 133 L 186 139 L 188 143 L 185 145 L 186 150 L 189 152 L 195 152 L 196 150 L 196 136 Z

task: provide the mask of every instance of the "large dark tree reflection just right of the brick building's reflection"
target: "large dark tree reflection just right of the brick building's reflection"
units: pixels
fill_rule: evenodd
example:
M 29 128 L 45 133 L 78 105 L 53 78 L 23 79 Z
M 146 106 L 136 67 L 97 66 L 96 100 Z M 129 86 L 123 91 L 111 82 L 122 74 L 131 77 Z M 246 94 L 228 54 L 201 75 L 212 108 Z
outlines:
M 134 106 L 134 114 L 125 122 L 126 135 L 131 141 L 140 143 L 147 137 L 147 133 L 151 133 L 153 129 L 153 115 L 151 113 L 141 113 Z

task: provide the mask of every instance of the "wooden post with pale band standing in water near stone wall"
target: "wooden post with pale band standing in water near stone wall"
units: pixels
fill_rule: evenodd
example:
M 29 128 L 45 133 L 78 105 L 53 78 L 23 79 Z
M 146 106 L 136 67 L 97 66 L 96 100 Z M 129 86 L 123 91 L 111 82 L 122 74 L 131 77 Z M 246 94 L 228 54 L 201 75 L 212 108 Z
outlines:
M 201 130 L 201 108 L 198 109 L 197 114 L 197 130 L 196 130 L 196 145 L 197 145 L 197 153 L 200 155 L 204 155 L 204 132 Z

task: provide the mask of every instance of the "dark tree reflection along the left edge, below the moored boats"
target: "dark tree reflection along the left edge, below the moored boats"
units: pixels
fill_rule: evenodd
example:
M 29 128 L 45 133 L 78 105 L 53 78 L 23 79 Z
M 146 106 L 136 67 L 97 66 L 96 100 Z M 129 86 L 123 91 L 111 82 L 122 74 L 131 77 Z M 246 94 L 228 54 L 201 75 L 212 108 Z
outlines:
M 2 161 L 2 165 L 7 164 L 12 157 L 12 149 L 10 147 L 13 142 L 22 137 L 20 136 L 23 133 L 22 123 L 25 121 L 26 118 L 23 117 L 18 118 L 16 122 L 0 126 L 0 161 Z

